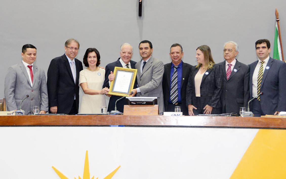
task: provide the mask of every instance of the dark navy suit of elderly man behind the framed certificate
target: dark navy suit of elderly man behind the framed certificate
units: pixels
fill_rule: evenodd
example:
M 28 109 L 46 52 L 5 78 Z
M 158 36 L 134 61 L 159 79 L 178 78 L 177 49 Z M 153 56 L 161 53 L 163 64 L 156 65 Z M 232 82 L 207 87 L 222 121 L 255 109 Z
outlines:
M 105 88 L 105 87 L 108 87 L 109 88 L 109 79 L 108 79 L 108 75 L 110 74 L 110 71 L 114 72 L 114 67 L 122 67 L 120 61 L 119 61 L 120 58 L 118 58 L 117 61 L 115 62 L 112 62 L 112 63 L 109 63 L 108 65 L 106 65 L 105 67 L 105 79 L 104 79 L 104 83 L 103 83 L 103 87 L 102 88 Z M 135 61 L 132 61 L 130 60 L 130 65 L 131 65 L 131 68 L 132 69 L 135 69 L 135 64 L 136 62 Z M 137 88 L 137 80 L 135 80 L 135 83 L 134 83 L 134 89 Z M 115 95 L 112 95 L 110 98 L 109 98 L 109 103 L 108 103 L 108 109 L 107 111 L 112 111 L 115 109 L 115 102 L 116 100 L 122 98 L 122 96 L 115 96 Z M 126 99 L 123 98 L 122 100 L 119 100 L 117 103 L 116 103 L 116 108 L 118 111 L 120 112 L 123 112 L 123 108 L 124 108 L 124 105 L 126 105 Z

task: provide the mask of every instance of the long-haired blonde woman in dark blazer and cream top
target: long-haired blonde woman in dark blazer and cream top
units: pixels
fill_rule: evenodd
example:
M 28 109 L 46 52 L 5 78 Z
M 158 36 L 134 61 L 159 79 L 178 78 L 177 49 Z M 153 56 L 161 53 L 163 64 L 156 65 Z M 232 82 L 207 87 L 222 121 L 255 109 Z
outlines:
M 196 59 L 198 65 L 192 69 L 187 85 L 189 115 L 221 114 L 223 68 L 215 64 L 207 45 L 196 49 Z

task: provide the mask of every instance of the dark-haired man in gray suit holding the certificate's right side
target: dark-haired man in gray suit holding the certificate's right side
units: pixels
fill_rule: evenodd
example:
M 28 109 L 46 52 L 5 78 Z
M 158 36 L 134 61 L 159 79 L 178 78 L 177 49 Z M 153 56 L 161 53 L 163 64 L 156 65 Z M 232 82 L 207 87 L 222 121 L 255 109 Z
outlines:
M 162 78 L 164 64 L 152 56 L 153 46 L 150 41 L 144 40 L 139 44 L 142 59 L 136 63 L 138 88 L 133 89 L 132 96 L 158 97 L 159 114 L 164 112 L 164 98 Z

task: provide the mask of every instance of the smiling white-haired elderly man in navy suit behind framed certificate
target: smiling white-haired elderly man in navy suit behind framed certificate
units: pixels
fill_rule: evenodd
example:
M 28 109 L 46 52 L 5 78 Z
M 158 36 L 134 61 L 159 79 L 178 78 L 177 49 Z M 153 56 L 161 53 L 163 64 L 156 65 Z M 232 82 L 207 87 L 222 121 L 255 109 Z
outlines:
M 112 80 L 114 80 L 113 70 L 114 67 L 123 67 L 123 68 L 131 68 L 135 69 L 135 61 L 132 61 L 132 55 L 133 55 L 133 47 L 129 43 L 124 43 L 120 46 L 120 52 L 119 52 L 120 58 L 117 59 L 117 61 L 109 63 L 105 67 L 105 80 L 102 88 L 110 87 L 110 83 Z M 134 83 L 134 88 L 137 87 L 137 81 Z M 112 111 L 115 109 L 115 102 L 122 96 L 114 96 L 112 95 L 109 99 L 108 103 L 108 109 L 107 111 Z M 123 98 L 122 100 L 119 100 L 116 103 L 116 108 L 118 111 L 123 112 L 124 105 L 126 105 L 126 100 Z

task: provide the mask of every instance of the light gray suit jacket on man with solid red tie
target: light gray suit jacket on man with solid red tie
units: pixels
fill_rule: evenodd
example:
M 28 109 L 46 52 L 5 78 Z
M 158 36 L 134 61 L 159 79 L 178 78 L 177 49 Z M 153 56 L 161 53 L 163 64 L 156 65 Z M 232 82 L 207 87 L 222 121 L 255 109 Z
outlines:
M 9 111 L 20 109 L 20 103 L 26 95 L 29 95 L 22 102 L 22 110 L 27 114 L 33 110 L 33 106 L 39 106 L 40 110 L 48 111 L 48 93 L 46 76 L 43 69 L 33 65 L 33 86 L 31 87 L 26 67 L 21 62 L 9 67 L 5 77 L 5 98 Z

